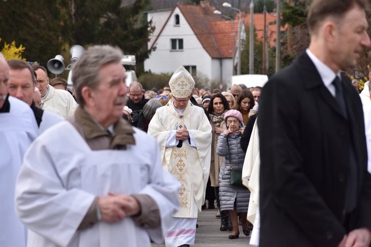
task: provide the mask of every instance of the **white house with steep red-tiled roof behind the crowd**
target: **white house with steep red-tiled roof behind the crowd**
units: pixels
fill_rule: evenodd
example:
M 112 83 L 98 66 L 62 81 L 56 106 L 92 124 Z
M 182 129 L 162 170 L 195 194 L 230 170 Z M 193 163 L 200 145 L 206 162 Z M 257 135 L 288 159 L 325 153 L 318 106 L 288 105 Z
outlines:
M 144 70 L 173 73 L 183 65 L 196 81 L 202 74 L 216 82 L 229 82 L 233 22 L 214 10 L 201 1 L 200 5 L 177 4 L 172 10 L 148 12 L 148 21 L 156 27 L 148 48 L 156 50 L 144 61 Z M 234 25 L 237 33 L 237 22 Z

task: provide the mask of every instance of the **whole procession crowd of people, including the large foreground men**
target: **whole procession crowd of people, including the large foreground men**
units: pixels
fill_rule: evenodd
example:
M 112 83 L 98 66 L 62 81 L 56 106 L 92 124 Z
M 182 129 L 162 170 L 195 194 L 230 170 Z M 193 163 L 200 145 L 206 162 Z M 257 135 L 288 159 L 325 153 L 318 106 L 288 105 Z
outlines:
M 313 0 L 309 47 L 264 88 L 198 89 L 183 66 L 127 87 L 122 51 L 94 45 L 71 92 L 0 53 L 0 246 L 189 247 L 215 206 L 230 240 L 370 246 L 371 86 L 341 72 L 371 47 L 368 6 Z

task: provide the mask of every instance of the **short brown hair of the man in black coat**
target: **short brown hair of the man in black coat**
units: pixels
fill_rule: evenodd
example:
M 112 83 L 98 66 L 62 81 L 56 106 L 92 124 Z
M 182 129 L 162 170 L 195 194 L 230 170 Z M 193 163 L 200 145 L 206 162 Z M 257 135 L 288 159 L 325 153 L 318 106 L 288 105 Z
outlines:
M 340 20 L 355 4 L 362 9 L 369 9 L 367 0 L 313 0 L 307 18 L 309 32 L 315 32 L 319 24 L 327 17 Z

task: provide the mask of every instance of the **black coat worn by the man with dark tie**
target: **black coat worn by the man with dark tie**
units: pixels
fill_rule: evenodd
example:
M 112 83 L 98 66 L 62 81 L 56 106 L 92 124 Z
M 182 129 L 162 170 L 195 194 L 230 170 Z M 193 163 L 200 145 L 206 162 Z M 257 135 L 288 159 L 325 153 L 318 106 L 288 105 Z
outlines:
M 371 228 L 371 176 L 362 103 L 342 80 L 348 119 L 306 52 L 264 86 L 259 101 L 261 247 L 337 246 Z M 358 165 L 357 206 L 345 216 L 349 150 Z

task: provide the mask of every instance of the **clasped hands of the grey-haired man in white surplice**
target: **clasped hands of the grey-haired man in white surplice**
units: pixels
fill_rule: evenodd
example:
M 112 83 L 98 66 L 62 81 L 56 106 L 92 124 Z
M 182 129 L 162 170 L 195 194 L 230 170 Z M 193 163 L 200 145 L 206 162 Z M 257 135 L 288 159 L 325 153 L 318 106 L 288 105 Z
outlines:
M 103 221 L 113 223 L 126 216 L 137 215 L 140 212 L 138 201 L 128 195 L 108 193 L 108 196 L 98 199 L 100 215 Z

